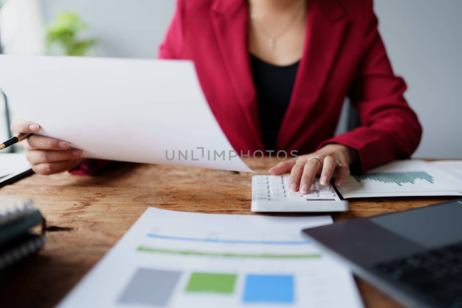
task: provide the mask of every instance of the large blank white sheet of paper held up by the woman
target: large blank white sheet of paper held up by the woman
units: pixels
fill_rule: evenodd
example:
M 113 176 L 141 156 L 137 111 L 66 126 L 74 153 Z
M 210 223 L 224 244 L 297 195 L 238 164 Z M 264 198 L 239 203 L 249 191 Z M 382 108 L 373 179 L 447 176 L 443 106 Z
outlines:
M 192 61 L 0 55 L 0 67 L 0 88 L 21 116 L 84 157 L 253 172 Z

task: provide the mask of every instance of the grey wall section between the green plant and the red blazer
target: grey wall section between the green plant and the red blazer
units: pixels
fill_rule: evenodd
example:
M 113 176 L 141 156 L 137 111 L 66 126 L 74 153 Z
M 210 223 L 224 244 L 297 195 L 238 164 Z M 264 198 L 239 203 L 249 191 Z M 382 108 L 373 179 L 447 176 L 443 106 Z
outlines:
M 98 56 L 155 58 L 175 0 L 42 0 L 48 24 L 59 10 L 77 11 L 100 42 Z

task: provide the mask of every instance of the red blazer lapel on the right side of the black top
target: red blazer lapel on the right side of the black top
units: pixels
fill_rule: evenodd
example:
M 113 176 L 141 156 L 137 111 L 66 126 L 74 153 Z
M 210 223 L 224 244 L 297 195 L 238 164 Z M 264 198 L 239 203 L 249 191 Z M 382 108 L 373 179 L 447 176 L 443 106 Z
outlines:
M 348 19 L 338 0 L 311 0 L 308 3 L 304 53 L 276 139 L 277 149 L 287 149 L 298 137 L 322 92 L 346 33 Z

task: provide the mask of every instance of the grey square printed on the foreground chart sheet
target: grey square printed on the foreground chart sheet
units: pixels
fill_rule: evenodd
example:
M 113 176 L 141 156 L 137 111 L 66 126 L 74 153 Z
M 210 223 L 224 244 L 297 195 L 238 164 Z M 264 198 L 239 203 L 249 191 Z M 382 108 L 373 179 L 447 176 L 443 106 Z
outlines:
M 181 272 L 139 268 L 119 298 L 120 303 L 165 306 Z

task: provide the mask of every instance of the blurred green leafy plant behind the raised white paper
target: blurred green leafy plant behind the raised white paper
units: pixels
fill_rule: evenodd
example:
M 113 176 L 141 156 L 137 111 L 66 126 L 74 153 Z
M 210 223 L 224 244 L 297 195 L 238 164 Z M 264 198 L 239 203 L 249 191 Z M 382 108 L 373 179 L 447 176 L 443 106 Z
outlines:
M 81 33 L 89 26 L 80 20 L 76 12 L 61 12 L 46 27 L 47 53 L 84 56 L 91 53 L 97 43 L 92 38 L 82 38 Z

